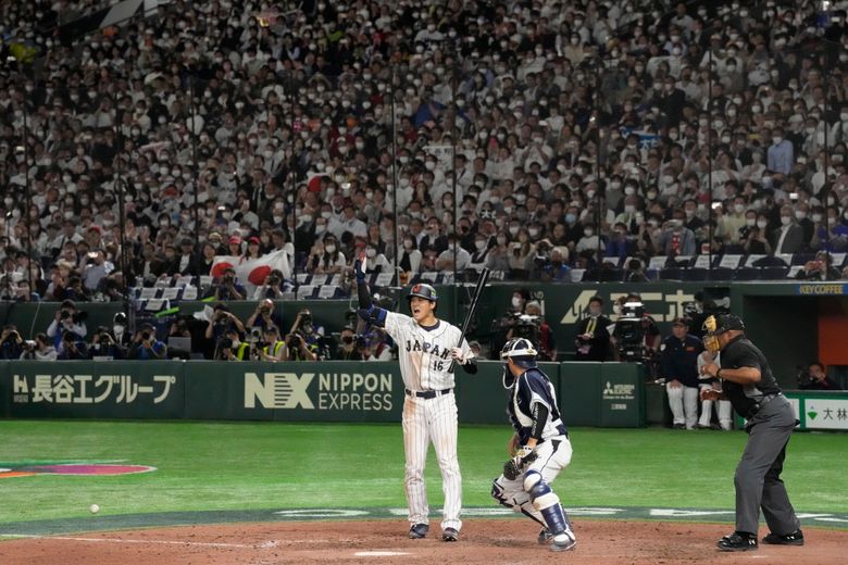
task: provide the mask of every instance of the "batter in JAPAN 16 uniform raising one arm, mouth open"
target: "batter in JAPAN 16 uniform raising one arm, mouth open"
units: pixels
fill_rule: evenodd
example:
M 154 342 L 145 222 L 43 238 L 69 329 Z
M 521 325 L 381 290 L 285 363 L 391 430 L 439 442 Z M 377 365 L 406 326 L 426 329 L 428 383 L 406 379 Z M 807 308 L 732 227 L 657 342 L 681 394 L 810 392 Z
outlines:
M 407 457 L 404 487 L 409 505 L 409 537 L 421 539 L 429 530 L 429 507 L 424 485 L 424 464 L 429 443 L 436 449 L 445 492 L 441 539 L 457 541 L 462 528 L 462 476 L 457 459 L 457 401 L 453 397 L 452 361 L 466 373 L 477 366 L 467 341 L 457 347 L 462 331 L 436 317 L 438 297 L 429 285 L 415 285 L 407 297 L 412 317 L 377 307 L 363 271 L 364 254 L 354 262 L 359 314 L 385 328 L 398 344 L 403 377 L 403 451 Z

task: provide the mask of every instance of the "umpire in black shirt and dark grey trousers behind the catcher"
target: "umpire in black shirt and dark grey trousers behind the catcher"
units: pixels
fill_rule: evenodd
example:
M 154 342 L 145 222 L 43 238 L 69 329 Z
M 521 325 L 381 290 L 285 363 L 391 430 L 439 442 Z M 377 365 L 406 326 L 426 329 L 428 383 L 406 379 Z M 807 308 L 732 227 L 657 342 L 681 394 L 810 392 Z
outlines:
M 786 444 L 797 420 L 781 392 L 769 362 L 745 337 L 745 324 L 733 314 L 710 316 L 703 323 L 703 344 L 721 351 L 721 367 L 701 367 L 704 378 L 721 379 L 722 390 L 704 389 L 701 398 L 726 398 L 747 419 L 748 442 L 736 467 L 736 531 L 719 540 L 722 551 L 757 549 L 760 508 L 771 533 L 763 543 L 803 545 L 798 517 L 781 480 Z

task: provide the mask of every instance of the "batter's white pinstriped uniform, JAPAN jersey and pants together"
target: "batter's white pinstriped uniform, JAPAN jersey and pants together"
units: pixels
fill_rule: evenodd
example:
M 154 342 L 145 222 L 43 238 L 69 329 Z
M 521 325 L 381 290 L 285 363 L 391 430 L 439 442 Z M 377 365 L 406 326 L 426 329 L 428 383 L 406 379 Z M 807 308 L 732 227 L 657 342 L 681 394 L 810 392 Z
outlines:
M 441 319 L 432 327 L 424 327 L 410 316 L 394 312 L 386 314 L 385 329 L 398 344 L 400 374 L 407 388 L 403 450 L 407 455 L 404 485 L 409 520 L 411 524 L 429 523 L 424 465 L 432 441 L 441 469 L 445 492 L 441 528 L 459 530 L 462 527 L 462 476 L 457 459 L 454 378 L 448 369 L 451 365 L 451 348 L 457 347 L 462 331 Z M 464 357 L 472 356 L 464 339 L 461 349 Z

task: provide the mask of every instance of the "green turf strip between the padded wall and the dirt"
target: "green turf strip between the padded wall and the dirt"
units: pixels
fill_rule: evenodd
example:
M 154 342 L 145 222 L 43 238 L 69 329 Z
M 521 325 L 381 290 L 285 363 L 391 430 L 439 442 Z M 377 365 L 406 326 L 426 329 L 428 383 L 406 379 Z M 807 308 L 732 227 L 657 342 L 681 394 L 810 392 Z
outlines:
M 22 462 L 113 462 L 154 473 L 0 480 L 0 523 L 203 510 L 404 506 L 400 424 L 0 420 L 0 467 Z M 572 465 L 554 482 L 566 506 L 733 507 L 741 432 L 571 430 Z M 465 505 L 492 504 L 506 426 L 460 429 Z M 848 436 L 797 434 L 784 479 L 801 512 L 845 512 Z M 441 481 L 431 450 L 431 504 Z

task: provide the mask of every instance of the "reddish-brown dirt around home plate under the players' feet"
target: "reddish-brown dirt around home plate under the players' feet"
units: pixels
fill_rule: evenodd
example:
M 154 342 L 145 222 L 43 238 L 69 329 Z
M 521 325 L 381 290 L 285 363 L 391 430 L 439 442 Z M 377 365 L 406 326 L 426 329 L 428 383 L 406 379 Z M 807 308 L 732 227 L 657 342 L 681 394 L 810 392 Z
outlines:
M 402 520 L 300 522 L 186 526 L 0 542 L 0 563 L 16 565 L 277 565 L 299 563 L 535 564 L 562 560 L 581 564 L 840 563 L 848 531 L 808 528 L 807 545 L 760 545 L 755 552 L 722 553 L 715 541 L 726 525 L 660 522 L 575 520 L 574 552 L 551 553 L 536 543 L 528 520 L 469 520 L 457 543 L 438 536 L 407 539 Z M 764 535 L 761 531 L 761 535 Z

